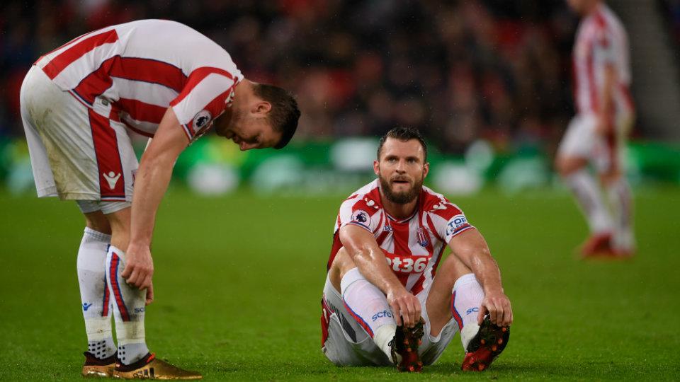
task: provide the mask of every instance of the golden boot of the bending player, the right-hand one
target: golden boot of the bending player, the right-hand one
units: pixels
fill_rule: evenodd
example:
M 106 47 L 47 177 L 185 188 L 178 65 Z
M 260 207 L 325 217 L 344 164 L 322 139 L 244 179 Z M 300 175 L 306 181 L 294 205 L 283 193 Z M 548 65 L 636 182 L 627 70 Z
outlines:
M 115 363 L 113 378 L 123 379 L 202 379 L 203 376 L 196 371 L 188 371 L 173 366 L 162 359 L 157 359 L 156 354 L 148 353 L 134 364 L 124 365 Z

